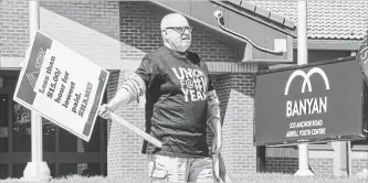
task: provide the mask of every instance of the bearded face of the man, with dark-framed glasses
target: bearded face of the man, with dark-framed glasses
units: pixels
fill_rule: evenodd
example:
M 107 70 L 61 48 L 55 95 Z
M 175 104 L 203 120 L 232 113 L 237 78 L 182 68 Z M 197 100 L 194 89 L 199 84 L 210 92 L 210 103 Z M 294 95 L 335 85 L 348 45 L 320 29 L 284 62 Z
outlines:
M 191 31 L 186 19 L 178 19 L 170 21 L 168 26 L 164 30 L 168 43 L 178 52 L 185 52 L 191 44 Z

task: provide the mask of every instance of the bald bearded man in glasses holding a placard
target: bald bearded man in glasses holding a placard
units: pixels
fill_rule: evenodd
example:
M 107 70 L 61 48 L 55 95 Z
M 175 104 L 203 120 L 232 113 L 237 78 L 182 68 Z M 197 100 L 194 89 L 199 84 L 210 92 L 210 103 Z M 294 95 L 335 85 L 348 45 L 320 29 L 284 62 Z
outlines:
M 144 143 L 151 182 L 214 182 L 207 125 L 214 132 L 212 154 L 221 151 L 222 133 L 208 67 L 187 51 L 192 28 L 185 17 L 168 14 L 160 29 L 165 45 L 145 55 L 116 96 L 101 106 L 99 116 L 108 118 L 108 111 L 146 94 L 146 132 L 162 142 L 161 148 Z

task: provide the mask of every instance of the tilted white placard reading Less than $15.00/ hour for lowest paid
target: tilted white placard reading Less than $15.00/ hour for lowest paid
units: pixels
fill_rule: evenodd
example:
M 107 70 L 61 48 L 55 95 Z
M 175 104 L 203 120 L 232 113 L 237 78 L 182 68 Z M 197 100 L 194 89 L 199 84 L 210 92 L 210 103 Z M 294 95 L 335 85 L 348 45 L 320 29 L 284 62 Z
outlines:
M 90 141 L 108 72 L 36 32 L 13 99 Z

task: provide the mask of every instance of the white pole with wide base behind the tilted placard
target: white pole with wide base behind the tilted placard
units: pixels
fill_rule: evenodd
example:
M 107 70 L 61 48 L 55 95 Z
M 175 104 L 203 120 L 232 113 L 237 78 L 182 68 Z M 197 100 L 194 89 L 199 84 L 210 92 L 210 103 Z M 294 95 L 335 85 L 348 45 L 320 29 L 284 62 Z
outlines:
M 30 42 L 33 34 L 40 28 L 39 1 L 29 1 L 29 20 L 30 20 Z M 34 110 L 31 110 L 31 143 L 32 143 L 32 162 L 28 162 L 23 180 L 30 182 L 45 182 L 51 179 L 48 164 L 42 161 L 42 118 Z

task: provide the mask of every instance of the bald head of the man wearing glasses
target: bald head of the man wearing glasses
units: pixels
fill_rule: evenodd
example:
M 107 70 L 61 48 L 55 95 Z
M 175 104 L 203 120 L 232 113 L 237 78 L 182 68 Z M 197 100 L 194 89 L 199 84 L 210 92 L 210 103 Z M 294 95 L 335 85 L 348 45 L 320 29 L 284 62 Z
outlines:
M 161 34 L 165 45 L 185 52 L 191 43 L 191 26 L 187 19 L 179 13 L 170 13 L 161 20 Z

